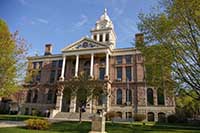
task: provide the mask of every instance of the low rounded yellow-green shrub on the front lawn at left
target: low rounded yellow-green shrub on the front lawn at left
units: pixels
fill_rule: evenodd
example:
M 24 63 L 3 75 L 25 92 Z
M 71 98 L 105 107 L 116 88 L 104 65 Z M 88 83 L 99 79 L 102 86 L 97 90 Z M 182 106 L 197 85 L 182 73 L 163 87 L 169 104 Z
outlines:
M 28 119 L 25 121 L 28 129 L 44 130 L 48 129 L 50 123 L 44 119 Z

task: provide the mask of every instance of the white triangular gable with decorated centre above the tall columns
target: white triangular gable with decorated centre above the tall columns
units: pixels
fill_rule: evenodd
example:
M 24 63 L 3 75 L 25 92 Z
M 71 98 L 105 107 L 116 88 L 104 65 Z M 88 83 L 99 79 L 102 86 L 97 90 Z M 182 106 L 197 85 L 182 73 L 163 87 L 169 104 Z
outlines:
M 92 40 L 90 38 L 81 38 L 80 40 L 68 45 L 63 48 L 61 51 L 71 51 L 71 50 L 79 50 L 79 49 L 93 49 L 93 48 L 108 48 L 109 46 Z

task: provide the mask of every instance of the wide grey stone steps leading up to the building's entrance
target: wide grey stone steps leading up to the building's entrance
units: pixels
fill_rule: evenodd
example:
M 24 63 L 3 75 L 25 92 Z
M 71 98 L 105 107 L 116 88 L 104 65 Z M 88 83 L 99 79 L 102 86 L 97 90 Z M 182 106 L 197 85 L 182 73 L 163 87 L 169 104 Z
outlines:
M 87 112 L 82 112 L 82 120 L 83 121 L 90 121 L 91 119 L 91 113 Z M 79 112 L 58 112 L 55 116 L 54 119 L 59 119 L 59 120 L 74 120 L 78 121 L 79 120 Z

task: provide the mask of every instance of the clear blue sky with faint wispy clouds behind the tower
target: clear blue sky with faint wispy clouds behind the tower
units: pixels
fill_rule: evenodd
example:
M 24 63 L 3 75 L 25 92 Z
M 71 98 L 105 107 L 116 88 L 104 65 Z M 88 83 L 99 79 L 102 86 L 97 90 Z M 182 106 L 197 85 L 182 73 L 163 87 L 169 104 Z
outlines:
M 131 47 L 140 12 L 149 13 L 157 0 L 0 0 L 0 18 L 11 32 L 19 31 L 32 47 L 29 55 L 44 53 L 46 43 L 53 53 L 83 36 L 107 8 L 115 26 L 117 47 Z

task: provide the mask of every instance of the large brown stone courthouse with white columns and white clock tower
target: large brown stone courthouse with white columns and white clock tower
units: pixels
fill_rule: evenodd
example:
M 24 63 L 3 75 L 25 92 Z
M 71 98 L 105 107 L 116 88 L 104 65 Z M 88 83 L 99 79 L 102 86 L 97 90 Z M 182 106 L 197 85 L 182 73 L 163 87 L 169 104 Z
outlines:
M 28 58 L 28 72 L 37 71 L 37 75 L 26 84 L 24 114 L 43 114 L 50 110 L 51 117 L 64 117 L 61 115 L 64 112 L 65 116 L 75 115 L 77 99 L 63 95 L 54 84 L 78 77 L 83 71 L 93 79 L 105 80 L 107 112 L 115 111 L 123 119 L 138 112 L 145 114 L 148 121 L 157 121 L 175 112 L 173 96 L 145 83 L 141 52 L 134 47 L 116 48 L 117 35 L 106 10 L 90 32 L 91 37 L 82 37 L 64 46 L 60 54 L 53 54 L 53 46 L 46 44 L 43 56 Z M 143 38 L 143 34 L 135 35 L 136 42 L 143 42 Z M 85 114 L 101 109 L 98 100 L 89 102 Z

